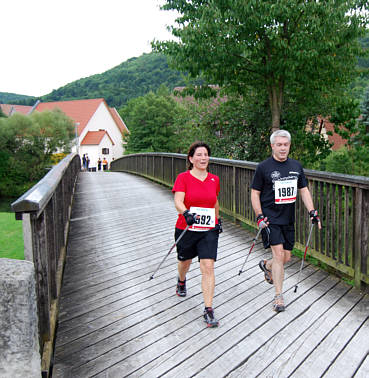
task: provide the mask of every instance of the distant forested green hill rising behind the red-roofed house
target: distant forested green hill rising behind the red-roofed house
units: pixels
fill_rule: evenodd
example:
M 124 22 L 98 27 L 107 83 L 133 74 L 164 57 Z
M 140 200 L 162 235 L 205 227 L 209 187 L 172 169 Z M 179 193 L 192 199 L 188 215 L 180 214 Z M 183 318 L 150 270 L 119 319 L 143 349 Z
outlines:
M 109 106 L 121 107 L 131 98 L 156 91 L 161 84 L 169 89 L 185 84 L 184 75 L 168 67 L 162 54 L 149 53 L 131 58 L 102 74 L 69 83 L 40 97 L 41 101 L 66 101 L 103 97 Z M 33 105 L 36 98 L 17 95 L 8 101 L 0 92 L 0 103 Z

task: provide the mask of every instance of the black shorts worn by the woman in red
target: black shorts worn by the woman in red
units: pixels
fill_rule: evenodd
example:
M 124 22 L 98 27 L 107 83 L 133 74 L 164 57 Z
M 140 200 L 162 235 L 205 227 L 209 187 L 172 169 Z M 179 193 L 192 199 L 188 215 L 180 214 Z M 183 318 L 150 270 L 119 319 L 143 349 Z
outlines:
M 183 230 L 175 229 L 174 237 L 178 239 Z M 218 252 L 218 227 L 210 231 L 187 231 L 177 244 L 177 258 L 179 261 L 191 260 L 194 257 L 213 259 L 216 261 Z

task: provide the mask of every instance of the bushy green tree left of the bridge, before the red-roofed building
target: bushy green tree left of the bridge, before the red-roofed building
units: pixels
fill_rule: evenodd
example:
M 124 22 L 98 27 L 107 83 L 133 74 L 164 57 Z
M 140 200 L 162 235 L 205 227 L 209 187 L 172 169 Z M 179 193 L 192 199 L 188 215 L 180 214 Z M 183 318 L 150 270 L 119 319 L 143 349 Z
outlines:
M 39 181 L 57 151 L 70 151 L 74 123 L 61 111 L 0 118 L 0 196 L 16 197 Z

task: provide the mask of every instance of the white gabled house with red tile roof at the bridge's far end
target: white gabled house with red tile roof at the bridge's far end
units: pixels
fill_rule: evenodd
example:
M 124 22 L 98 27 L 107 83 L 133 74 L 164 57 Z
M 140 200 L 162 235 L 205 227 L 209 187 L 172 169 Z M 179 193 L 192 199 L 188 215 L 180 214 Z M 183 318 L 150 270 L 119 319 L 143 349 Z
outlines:
M 97 161 L 105 157 L 110 162 L 123 155 L 123 135 L 129 130 L 115 108 L 109 108 L 103 98 L 89 100 L 40 102 L 34 111 L 60 109 L 75 121 L 78 151 L 82 157 L 88 154 L 90 168 L 97 167 Z

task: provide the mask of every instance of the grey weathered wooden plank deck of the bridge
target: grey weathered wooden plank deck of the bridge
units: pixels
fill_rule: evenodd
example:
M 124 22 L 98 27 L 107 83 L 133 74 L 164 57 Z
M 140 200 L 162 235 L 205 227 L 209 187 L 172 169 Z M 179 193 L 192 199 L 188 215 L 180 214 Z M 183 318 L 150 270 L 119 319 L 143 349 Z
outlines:
M 215 264 L 220 327 L 202 320 L 199 264 L 175 295 L 176 211 L 163 186 L 124 173 L 81 173 L 68 241 L 53 377 L 369 377 L 369 298 L 309 264 L 286 268 L 284 313 L 254 236 L 225 222 Z

